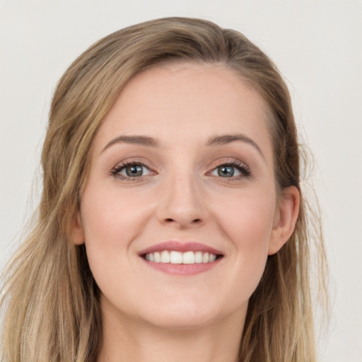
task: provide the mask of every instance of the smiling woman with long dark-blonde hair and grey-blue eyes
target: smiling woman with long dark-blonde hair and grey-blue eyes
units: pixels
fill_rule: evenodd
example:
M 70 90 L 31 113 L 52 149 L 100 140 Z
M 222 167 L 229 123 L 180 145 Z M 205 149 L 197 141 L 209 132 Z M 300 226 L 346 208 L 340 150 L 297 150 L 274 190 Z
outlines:
M 315 361 L 300 152 L 240 33 L 165 18 L 97 42 L 54 93 L 4 361 Z

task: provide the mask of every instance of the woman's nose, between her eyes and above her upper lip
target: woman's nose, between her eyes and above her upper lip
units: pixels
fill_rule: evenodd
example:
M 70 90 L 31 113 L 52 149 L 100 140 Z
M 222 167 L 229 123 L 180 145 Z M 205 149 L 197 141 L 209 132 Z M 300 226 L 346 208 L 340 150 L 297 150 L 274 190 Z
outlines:
M 192 175 L 170 177 L 161 189 L 157 216 L 161 223 L 180 229 L 206 222 L 208 213 L 202 189 Z

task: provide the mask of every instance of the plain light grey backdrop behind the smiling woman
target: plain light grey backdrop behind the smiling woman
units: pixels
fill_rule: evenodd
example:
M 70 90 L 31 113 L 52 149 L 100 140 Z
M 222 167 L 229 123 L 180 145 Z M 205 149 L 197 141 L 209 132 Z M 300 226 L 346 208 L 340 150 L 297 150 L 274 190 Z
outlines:
M 317 160 L 313 178 L 332 275 L 332 319 L 320 339 L 320 361 L 361 362 L 361 0 L 0 0 L 0 269 L 37 204 L 57 80 L 95 40 L 163 16 L 235 28 L 284 74 Z

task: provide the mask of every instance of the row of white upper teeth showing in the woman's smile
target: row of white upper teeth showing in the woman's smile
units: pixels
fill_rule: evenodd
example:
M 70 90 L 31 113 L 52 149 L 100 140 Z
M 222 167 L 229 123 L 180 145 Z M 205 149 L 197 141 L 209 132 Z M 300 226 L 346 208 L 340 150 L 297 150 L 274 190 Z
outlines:
M 199 264 L 199 263 L 212 263 L 216 260 L 216 255 L 209 252 L 176 252 L 175 250 L 169 252 L 148 252 L 145 255 L 148 262 L 156 263 L 171 263 L 171 264 Z

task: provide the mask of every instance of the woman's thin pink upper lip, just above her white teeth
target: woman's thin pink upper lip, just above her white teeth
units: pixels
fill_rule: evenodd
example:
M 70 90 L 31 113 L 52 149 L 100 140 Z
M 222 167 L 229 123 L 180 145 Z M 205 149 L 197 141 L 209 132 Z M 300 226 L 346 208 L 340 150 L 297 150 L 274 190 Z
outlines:
M 214 247 L 210 247 L 208 245 L 196 242 L 181 243 L 180 241 L 165 241 L 164 243 L 152 245 L 144 250 L 141 250 L 139 255 L 148 254 L 150 252 L 162 252 L 163 250 L 176 252 L 209 252 L 215 255 L 223 255 L 220 250 L 216 250 Z

